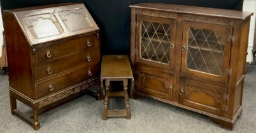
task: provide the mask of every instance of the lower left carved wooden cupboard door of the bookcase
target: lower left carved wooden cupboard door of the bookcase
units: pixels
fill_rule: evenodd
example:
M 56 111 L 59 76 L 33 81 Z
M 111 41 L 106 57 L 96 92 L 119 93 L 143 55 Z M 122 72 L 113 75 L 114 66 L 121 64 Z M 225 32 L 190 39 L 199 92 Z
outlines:
M 160 99 L 173 100 L 173 76 L 137 66 L 137 91 Z

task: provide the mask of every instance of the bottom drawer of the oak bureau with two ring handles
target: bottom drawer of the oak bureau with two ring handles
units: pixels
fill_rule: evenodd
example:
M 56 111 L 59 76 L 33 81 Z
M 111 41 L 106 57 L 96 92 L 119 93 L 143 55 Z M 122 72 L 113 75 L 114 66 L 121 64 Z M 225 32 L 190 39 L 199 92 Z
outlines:
M 66 87 L 77 84 L 78 82 L 89 79 L 90 77 L 95 77 L 98 75 L 98 71 L 99 63 L 96 63 L 94 65 L 80 68 L 75 72 L 69 72 L 53 79 L 37 82 L 35 84 L 36 98 L 42 98 L 43 96 L 52 94 L 53 92 L 60 91 Z

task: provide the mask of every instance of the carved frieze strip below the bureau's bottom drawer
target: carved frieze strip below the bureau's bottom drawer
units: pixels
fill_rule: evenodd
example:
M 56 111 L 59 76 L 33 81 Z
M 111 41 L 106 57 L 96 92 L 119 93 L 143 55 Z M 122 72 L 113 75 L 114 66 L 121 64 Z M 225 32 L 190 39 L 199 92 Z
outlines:
M 88 87 L 91 87 L 96 84 L 97 84 L 97 81 L 93 80 L 93 81 L 87 82 L 83 85 L 80 85 L 78 87 L 75 87 L 71 90 L 57 94 L 51 98 L 47 98 L 47 99 L 39 102 L 39 108 L 42 108 L 43 106 L 46 106 L 46 105 L 50 105 L 50 104 L 54 103 L 55 101 L 59 101 L 60 99 L 67 98 L 68 96 L 70 96 L 72 94 L 76 94 L 76 93 L 83 91 L 83 90 L 87 89 Z

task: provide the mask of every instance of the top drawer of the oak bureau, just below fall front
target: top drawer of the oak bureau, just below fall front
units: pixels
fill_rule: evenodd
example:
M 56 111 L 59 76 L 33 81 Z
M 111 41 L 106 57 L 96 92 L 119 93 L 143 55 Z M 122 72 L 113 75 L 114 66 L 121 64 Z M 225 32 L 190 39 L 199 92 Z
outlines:
M 47 44 L 41 44 L 34 47 L 36 51 L 32 56 L 34 63 L 39 61 L 51 60 L 59 56 L 81 51 L 83 49 L 89 49 L 92 47 L 99 47 L 96 34 L 87 35 L 83 37 L 73 37 L 72 39 L 66 39 L 64 41 L 52 42 L 50 46 Z

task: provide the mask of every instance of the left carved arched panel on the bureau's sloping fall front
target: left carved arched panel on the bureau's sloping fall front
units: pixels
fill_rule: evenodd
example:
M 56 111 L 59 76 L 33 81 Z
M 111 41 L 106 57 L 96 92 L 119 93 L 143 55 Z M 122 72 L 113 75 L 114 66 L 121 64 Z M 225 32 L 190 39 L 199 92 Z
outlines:
M 63 33 L 63 29 L 53 13 L 24 16 L 24 21 L 34 39 L 42 39 Z

